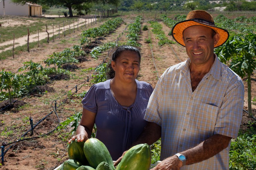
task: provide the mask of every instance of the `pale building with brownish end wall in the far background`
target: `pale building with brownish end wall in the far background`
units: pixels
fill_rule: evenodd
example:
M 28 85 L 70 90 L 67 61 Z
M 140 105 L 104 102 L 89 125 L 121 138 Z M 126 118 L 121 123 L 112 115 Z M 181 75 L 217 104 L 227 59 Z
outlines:
M 0 15 L 41 16 L 42 6 L 30 3 L 20 5 L 11 0 L 0 0 Z

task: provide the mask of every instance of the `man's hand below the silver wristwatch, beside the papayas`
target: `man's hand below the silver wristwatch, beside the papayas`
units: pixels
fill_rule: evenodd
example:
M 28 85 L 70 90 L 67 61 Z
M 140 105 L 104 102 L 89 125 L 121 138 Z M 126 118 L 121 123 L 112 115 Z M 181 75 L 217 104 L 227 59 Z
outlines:
M 180 170 L 182 167 L 182 162 L 178 159 L 176 155 L 164 159 L 162 162 L 156 165 L 150 170 Z

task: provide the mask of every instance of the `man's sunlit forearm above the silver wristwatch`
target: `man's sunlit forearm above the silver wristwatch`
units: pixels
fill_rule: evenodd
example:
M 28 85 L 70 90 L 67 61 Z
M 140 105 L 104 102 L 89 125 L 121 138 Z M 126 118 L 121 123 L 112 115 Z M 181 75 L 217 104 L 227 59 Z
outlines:
M 197 146 L 180 153 L 186 156 L 186 165 L 190 165 L 213 157 L 225 149 L 230 140 L 231 137 L 215 134 Z

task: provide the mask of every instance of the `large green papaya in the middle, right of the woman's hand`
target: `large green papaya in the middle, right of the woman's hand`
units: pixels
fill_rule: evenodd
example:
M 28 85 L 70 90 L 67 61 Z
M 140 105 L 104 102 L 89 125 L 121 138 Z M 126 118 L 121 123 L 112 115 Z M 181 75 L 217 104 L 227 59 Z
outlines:
M 101 162 L 107 162 L 112 170 L 115 170 L 107 147 L 99 139 L 87 139 L 84 143 L 84 154 L 91 167 L 96 169 Z

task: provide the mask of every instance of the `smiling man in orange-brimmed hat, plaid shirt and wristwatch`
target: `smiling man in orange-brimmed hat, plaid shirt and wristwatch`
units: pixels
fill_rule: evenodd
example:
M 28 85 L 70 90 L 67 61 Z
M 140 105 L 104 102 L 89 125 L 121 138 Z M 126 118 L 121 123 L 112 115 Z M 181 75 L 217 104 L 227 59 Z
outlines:
M 162 162 L 152 170 L 228 170 L 244 102 L 242 80 L 214 54 L 229 33 L 215 27 L 209 13 L 195 10 L 172 36 L 189 58 L 160 77 L 144 117 L 149 123 L 134 144 L 161 137 Z

